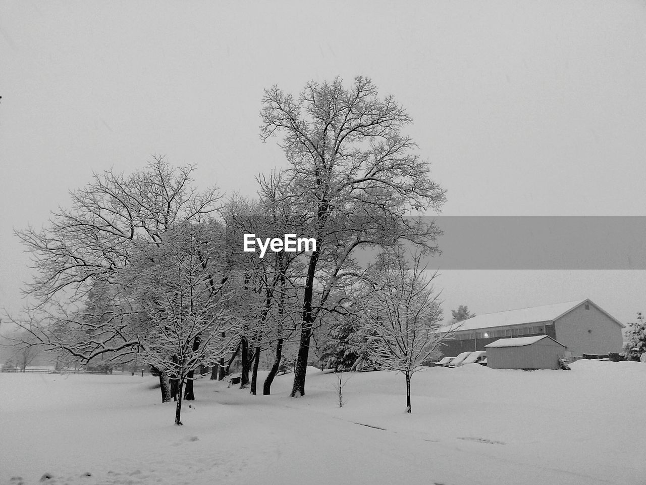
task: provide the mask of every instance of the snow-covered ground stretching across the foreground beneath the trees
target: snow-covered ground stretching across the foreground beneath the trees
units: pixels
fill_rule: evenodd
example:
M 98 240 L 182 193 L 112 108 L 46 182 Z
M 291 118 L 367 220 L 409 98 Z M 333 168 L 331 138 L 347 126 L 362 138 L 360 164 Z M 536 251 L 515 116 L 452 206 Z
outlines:
M 0 483 L 646 483 L 641 363 L 426 369 L 412 415 L 397 374 L 353 374 L 342 408 L 333 374 L 309 369 L 299 399 L 291 379 L 272 396 L 199 380 L 176 427 L 152 376 L 0 374 Z

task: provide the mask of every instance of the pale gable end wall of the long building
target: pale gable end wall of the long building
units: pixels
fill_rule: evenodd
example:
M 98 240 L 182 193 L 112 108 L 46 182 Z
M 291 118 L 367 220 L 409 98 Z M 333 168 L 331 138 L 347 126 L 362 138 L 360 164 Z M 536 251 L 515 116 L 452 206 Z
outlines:
M 621 327 L 594 305 L 580 305 L 554 322 L 554 339 L 567 345 L 574 356 L 621 352 Z

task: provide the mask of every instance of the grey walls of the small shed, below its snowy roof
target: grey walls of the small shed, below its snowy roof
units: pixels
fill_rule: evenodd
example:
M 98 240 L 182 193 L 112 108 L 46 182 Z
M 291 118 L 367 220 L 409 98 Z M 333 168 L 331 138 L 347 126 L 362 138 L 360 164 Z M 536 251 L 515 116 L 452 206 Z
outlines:
M 546 338 L 520 347 L 489 347 L 486 360 L 492 369 L 559 369 L 563 354 L 562 345 Z

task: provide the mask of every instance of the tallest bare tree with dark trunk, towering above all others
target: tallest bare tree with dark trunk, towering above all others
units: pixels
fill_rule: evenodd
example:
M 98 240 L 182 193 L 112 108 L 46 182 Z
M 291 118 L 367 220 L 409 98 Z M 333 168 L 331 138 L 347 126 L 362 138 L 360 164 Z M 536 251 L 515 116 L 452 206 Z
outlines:
M 309 343 L 315 321 L 335 286 L 355 271 L 353 253 L 366 244 L 408 239 L 432 250 L 437 228 L 407 219 L 411 210 L 437 210 L 444 191 L 402 133 L 412 118 L 392 96 L 380 98 L 373 83 L 357 77 L 307 83 L 297 97 L 274 86 L 262 100 L 261 138 L 281 136 L 290 164 L 288 200 L 309 217 L 300 314 L 300 343 L 291 395 L 305 394 Z

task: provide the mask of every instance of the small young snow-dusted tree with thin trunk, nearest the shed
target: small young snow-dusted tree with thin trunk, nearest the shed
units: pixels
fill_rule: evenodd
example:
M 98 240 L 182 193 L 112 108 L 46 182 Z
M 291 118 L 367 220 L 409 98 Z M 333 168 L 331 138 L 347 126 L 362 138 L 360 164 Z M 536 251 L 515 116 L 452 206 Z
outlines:
M 408 264 L 405 255 L 376 266 L 373 287 L 359 301 L 364 318 L 368 358 L 379 369 L 406 378 L 406 412 L 411 412 L 410 381 L 443 339 L 439 294 L 427 278 L 419 255 Z

